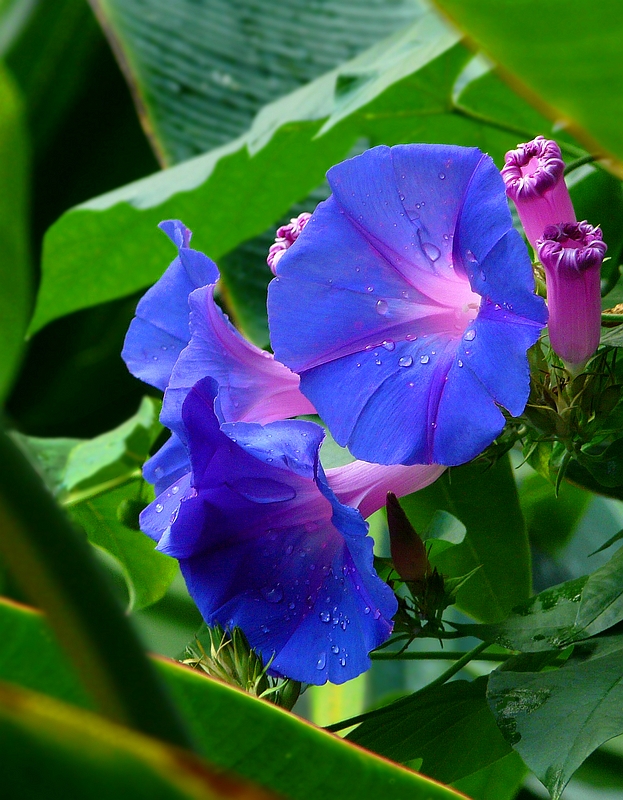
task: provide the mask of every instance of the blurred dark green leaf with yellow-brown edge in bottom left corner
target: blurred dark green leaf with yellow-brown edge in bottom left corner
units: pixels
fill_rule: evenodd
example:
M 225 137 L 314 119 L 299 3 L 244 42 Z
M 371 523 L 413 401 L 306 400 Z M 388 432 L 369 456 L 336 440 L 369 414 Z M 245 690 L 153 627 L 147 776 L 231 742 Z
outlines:
M 0 685 L 2 786 L 35 800 L 249 800 L 270 797 L 188 752 L 48 697 Z M 33 769 L 36 764 L 36 769 Z

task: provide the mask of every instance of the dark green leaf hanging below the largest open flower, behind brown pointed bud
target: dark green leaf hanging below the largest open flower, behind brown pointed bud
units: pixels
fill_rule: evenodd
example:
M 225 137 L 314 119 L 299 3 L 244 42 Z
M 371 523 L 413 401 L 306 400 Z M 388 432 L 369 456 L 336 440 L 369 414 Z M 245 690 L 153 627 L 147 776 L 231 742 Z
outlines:
M 451 578 L 478 572 L 461 587 L 457 605 L 486 622 L 504 619 L 531 589 L 530 552 L 517 487 L 507 457 L 446 471 L 432 486 L 401 500 L 416 530 L 444 510 L 467 528 L 461 544 L 433 559 Z

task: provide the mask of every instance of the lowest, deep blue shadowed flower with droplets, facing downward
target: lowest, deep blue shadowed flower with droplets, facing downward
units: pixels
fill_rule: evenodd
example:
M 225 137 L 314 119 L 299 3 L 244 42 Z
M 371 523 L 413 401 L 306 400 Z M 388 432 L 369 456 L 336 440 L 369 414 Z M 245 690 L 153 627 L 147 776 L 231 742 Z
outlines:
M 188 393 L 192 476 L 159 495 L 141 527 L 180 560 L 206 622 L 242 628 L 273 673 L 354 678 L 389 636 L 397 604 L 374 572 L 361 515 L 327 485 L 323 431 L 303 421 L 220 424 L 217 391 L 206 378 Z

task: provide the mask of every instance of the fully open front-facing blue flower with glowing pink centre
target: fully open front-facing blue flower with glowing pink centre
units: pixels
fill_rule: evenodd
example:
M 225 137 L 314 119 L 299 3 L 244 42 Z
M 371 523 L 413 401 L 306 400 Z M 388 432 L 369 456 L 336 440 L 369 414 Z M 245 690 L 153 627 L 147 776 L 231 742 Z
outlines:
M 328 179 L 269 287 L 275 357 L 355 457 L 469 461 L 522 413 L 547 319 L 502 178 L 476 148 L 401 145 Z

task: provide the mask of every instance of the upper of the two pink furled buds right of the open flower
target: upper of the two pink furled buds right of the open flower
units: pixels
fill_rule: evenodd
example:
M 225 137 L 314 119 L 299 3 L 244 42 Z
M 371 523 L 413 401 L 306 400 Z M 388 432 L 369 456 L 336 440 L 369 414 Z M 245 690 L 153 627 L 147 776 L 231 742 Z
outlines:
M 516 150 L 506 154 L 502 169 L 506 194 L 515 203 L 535 250 L 548 225 L 576 221 L 564 168 L 560 147 L 544 136 L 517 145 Z

